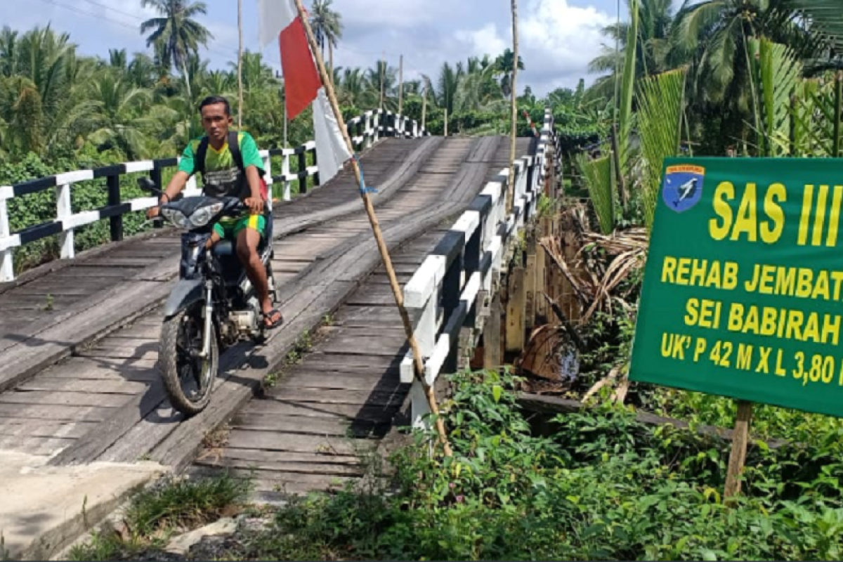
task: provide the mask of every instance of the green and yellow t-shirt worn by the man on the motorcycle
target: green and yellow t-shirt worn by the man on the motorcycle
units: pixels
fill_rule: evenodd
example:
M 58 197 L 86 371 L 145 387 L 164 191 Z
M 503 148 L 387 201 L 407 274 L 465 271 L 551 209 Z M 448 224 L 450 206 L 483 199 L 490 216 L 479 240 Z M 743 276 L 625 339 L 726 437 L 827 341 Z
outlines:
M 181 155 L 179 169 L 185 174 L 193 175 L 195 171 L 193 158 L 202 138 L 203 136 L 200 136 L 189 142 Z M 263 160 L 258 153 L 255 139 L 249 133 L 239 131 L 238 140 L 240 154 L 243 156 L 243 168 L 255 166 L 262 174 Z M 241 199 L 250 195 L 251 190 L 246 174 L 240 172 L 237 163 L 234 162 L 234 156 L 228 150 L 228 142 L 223 144 L 218 151 L 210 143 L 208 144 L 205 153 L 205 171 L 202 174 L 202 192 L 209 196 L 228 195 Z

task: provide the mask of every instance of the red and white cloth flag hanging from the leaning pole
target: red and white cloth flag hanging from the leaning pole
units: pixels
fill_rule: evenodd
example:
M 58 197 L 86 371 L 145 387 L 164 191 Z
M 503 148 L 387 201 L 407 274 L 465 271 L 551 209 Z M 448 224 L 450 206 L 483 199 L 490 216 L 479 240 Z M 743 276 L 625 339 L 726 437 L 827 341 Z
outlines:
M 287 119 L 293 120 L 309 104 L 313 104 L 319 179 L 328 181 L 348 158 L 352 158 L 352 154 L 348 151 L 319 78 L 296 4 L 294 0 L 258 0 L 258 18 L 261 50 L 276 40 L 281 48 Z

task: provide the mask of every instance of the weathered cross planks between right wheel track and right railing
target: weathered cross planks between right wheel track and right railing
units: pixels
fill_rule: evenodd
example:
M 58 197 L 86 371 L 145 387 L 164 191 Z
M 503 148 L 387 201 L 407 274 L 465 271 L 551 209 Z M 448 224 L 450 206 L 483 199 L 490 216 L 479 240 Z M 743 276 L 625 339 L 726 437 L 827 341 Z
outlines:
M 520 142 L 518 148 L 526 151 Z M 475 162 L 491 163 L 481 183 L 507 165 L 507 155 L 506 143 L 472 154 Z M 450 218 L 393 255 L 396 268 L 405 271 L 399 274 L 402 284 L 447 232 Z M 224 436 L 205 443 L 189 471 L 249 474 L 255 499 L 269 502 L 360 478 L 362 459 L 392 428 L 409 391 L 399 376 L 406 349 L 389 280 L 379 267 L 341 306 L 335 322 L 319 329 L 314 351 L 282 369 L 275 385 L 240 409 Z

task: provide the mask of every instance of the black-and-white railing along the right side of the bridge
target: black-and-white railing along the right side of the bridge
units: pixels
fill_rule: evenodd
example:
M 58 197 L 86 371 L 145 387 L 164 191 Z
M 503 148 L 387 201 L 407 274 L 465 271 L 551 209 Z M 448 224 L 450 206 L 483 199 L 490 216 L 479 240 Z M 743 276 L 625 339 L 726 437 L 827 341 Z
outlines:
M 534 156 L 515 161 L 512 179 L 506 168 L 486 184 L 405 285 L 404 304 L 415 318 L 413 335 L 423 356 L 428 385 L 432 386 L 441 373 L 457 370 L 460 331 L 480 327 L 479 296 L 497 288 L 504 257 L 518 240 L 524 223 L 536 212 L 545 185 L 547 149 L 553 142 L 553 117 L 545 110 Z M 510 180 L 515 190 L 513 208 L 507 215 Z M 412 351 L 407 351 L 401 361 L 400 377 L 402 383 L 412 383 L 412 425 L 421 426 L 422 416 L 430 409 L 415 378 Z

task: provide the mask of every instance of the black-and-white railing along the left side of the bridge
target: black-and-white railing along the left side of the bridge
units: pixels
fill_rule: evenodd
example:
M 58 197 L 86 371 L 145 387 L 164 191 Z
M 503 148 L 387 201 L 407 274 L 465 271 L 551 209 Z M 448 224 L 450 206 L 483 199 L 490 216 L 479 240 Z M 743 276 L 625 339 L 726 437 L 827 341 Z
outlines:
M 429 133 L 416 120 L 391 111 L 372 110 L 359 115 L 346 123 L 346 129 L 352 138 L 355 150 L 362 151 L 372 147 L 384 136 L 415 138 Z M 280 157 L 281 173 L 272 174 L 271 158 Z M 280 198 L 289 201 L 292 198 L 292 183 L 298 182 L 298 194 L 303 195 L 309 189 L 309 178 L 313 187 L 319 187 L 319 163 L 316 159 L 316 143 L 305 142 L 294 148 L 271 148 L 260 151 L 266 169 L 266 183 L 282 185 Z M 298 170 L 291 171 L 291 159 L 296 158 Z M 0 282 L 15 279 L 14 249 L 31 244 L 37 240 L 58 235 L 60 257 L 72 259 L 75 254 L 74 232 L 79 227 L 108 219 L 110 222 L 110 241 L 123 239 L 123 217 L 133 211 L 143 211 L 158 204 L 156 197 L 137 197 L 123 200 L 121 197 L 121 177 L 127 174 L 148 174 L 157 185 L 164 185 L 165 172 L 176 169 L 181 158 L 161 158 L 140 162 L 126 162 L 97 169 L 85 169 L 51 175 L 46 178 L 31 179 L 15 185 L 0 185 Z M 308 165 L 308 162 L 312 162 Z M 107 194 L 107 203 L 99 208 L 74 210 L 72 190 L 80 182 L 105 179 L 105 185 L 98 185 Z M 12 232 L 9 227 L 8 201 L 16 197 L 25 197 L 47 190 L 56 190 L 56 218 Z M 191 177 L 185 187 L 185 195 L 197 195 L 201 189 L 196 185 L 196 177 Z M 275 190 L 273 190 L 274 194 Z

